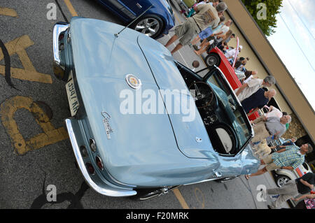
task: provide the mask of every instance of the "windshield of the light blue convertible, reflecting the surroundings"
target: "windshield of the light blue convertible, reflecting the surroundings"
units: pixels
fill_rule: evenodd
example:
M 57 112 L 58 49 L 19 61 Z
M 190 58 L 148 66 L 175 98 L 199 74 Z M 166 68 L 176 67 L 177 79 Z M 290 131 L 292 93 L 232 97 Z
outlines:
M 232 93 L 227 80 L 223 78 L 220 71 L 214 71 L 214 74 L 208 78 L 207 83 L 214 89 L 221 101 L 228 101 L 225 109 L 230 111 L 228 114 L 234 114 L 229 115 L 230 120 L 236 130 L 237 138 L 239 138 L 240 148 L 244 148 L 244 145 L 251 139 L 251 129 L 248 127 L 248 119 L 244 109 L 239 106 L 235 94 Z

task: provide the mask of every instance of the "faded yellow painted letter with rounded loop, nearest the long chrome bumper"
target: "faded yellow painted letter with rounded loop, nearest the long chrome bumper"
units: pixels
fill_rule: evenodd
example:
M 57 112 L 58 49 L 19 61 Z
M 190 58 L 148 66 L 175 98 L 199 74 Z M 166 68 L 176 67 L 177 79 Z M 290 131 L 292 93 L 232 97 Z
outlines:
M 13 148 L 18 154 L 25 154 L 31 150 L 37 150 L 45 145 L 57 143 L 68 138 L 68 133 L 64 127 L 55 129 L 49 122 L 48 116 L 34 101 L 26 96 L 13 96 L 1 104 L 1 121 L 6 132 L 12 139 Z M 14 120 L 17 110 L 25 108 L 34 115 L 37 124 L 43 129 L 43 133 L 38 134 L 25 141 L 19 131 L 18 124 Z

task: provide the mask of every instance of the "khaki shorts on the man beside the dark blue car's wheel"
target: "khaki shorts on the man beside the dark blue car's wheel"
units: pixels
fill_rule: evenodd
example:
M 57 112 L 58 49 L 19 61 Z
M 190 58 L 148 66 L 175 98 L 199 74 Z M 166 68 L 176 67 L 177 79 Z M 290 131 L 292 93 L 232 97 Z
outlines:
M 186 22 L 175 28 L 175 35 L 179 37 L 179 43 L 181 43 L 181 45 L 190 43 L 199 32 L 200 30 L 192 17 L 189 17 Z

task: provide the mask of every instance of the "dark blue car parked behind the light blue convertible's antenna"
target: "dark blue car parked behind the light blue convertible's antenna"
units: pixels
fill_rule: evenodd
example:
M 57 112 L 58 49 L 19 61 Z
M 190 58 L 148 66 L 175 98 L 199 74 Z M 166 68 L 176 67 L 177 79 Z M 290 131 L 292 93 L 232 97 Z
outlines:
M 169 33 L 175 24 L 173 10 L 169 0 L 97 0 L 106 8 L 116 13 L 123 21 L 131 22 L 144 13 L 131 27 L 152 38 L 159 38 Z

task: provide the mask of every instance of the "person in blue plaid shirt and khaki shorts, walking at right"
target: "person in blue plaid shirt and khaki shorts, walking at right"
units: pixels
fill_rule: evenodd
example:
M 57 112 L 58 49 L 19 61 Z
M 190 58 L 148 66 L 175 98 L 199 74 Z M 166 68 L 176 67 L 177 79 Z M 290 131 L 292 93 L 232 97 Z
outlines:
M 305 154 L 311 151 L 313 151 L 313 148 L 309 143 L 302 145 L 300 148 L 296 145 L 288 146 L 261 159 L 260 165 L 267 164 L 267 166 L 261 168 L 256 173 L 245 175 L 245 178 L 248 180 L 253 175 L 261 175 L 277 168 L 293 171 L 297 166 L 303 164 Z

